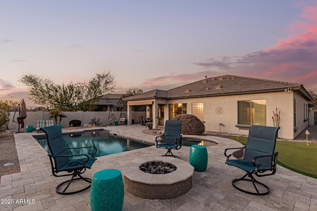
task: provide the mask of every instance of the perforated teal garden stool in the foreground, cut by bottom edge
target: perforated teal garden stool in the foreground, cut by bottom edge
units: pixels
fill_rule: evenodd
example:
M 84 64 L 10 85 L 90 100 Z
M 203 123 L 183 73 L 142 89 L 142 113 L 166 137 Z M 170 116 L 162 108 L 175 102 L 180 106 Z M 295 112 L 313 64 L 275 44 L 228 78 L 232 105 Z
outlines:
M 90 188 L 92 211 L 121 211 L 124 186 L 121 171 L 104 169 L 94 174 Z

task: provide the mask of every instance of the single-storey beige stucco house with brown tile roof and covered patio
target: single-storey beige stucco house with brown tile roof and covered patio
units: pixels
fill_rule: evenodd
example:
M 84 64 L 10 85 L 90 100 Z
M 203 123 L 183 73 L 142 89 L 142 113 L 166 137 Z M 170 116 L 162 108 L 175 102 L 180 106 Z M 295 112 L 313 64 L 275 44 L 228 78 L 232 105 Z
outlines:
M 294 139 L 309 125 L 312 96 L 303 84 L 225 75 L 207 78 L 169 90 L 152 90 L 124 98 L 128 124 L 132 106 L 146 105 L 147 118 L 171 120 L 192 114 L 205 122 L 206 131 L 248 134 L 251 125 L 273 126 L 280 112 L 280 138 Z M 157 127 L 153 121 L 153 127 Z

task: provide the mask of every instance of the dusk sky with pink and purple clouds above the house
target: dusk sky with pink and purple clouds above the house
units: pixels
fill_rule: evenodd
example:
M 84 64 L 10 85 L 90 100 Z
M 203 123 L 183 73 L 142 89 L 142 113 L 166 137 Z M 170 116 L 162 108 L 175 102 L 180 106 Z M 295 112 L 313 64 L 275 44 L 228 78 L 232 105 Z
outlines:
M 207 76 L 317 92 L 317 0 L 0 0 L 0 100 L 26 101 L 25 74 L 56 84 L 110 71 L 115 93 Z

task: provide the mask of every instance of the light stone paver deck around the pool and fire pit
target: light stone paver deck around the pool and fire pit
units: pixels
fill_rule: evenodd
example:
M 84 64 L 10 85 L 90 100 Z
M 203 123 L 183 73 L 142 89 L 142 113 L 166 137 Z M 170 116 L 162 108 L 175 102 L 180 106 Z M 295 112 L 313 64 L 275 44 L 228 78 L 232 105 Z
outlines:
M 127 138 L 139 138 L 155 141 L 154 135 L 141 131 L 144 126 L 110 126 L 103 127 L 111 133 Z M 82 130 L 82 129 L 74 129 Z M 63 129 L 63 132 L 69 131 Z M 40 134 L 41 132 L 39 132 Z M 42 132 L 43 133 L 43 132 Z M 66 179 L 54 177 L 47 152 L 37 143 L 32 135 L 36 132 L 15 133 L 16 149 L 20 162 L 20 173 L 1 177 L 0 210 L 1 211 L 89 211 L 90 189 L 73 195 L 58 195 L 55 187 Z M 259 180 L 264 182 L 270 193 L 266 196 L 253 196 L 242 193 L 231 185 L 231 180 L 244 175 L 244 172 L 225 164 L 224 149 L 240 147 L 241 144 L 222 137 L 204 136 L 218 142 L 216 146 L 207 147 L 209 162 L 204 172 L 194 171 L 191 190 L 177 198 L 150 200 L 136 197 L 125 191 L 124 211 L 316 211 L 317 179 L 278 166 L 274 175 Z M 182 147 L 173 153 L 181 160 L 189 162 L 190 147 Z M 158 157 L 165 154 L 165 149 L 155 146 L 99 157 L 92 169 L 85 175 L 102 169 L 119 169 L 138 158 Z M 81 185 L 81 184 L 78 184 Z M 13 204 L 7 200 L 13 199 Z M 30 204 L 16 203 L 17 200 L 30 200 Z M 32 204 L 34 200 L 34 204 Z

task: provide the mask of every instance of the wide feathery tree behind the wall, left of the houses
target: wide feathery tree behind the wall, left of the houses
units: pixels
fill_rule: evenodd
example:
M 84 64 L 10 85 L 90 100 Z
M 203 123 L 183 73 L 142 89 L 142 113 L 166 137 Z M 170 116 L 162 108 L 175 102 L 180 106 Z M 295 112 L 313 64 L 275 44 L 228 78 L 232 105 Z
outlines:
M 110 72 L 97 74 L 86 82 L 55 84 L 34 74 L 23 75 L 19 82 L 28 86 L 29 98 L 44 107 L 61 111 L 89 111 L 95 107 L 98 96 L 114 91 L 114 77 Z

